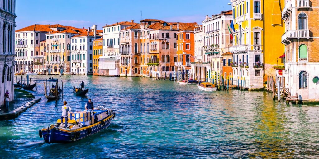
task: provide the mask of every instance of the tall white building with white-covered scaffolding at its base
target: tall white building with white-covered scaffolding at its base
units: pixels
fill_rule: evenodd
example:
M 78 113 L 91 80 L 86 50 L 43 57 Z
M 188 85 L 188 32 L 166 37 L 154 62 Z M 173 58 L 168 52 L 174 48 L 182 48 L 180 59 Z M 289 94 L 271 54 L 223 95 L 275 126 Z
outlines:
M 109 76 L 120 75 L 120 30 L 135 25 L 131 22 L 117 22 L 103 27 L 103 56 L 99 62 L 100 73 Z

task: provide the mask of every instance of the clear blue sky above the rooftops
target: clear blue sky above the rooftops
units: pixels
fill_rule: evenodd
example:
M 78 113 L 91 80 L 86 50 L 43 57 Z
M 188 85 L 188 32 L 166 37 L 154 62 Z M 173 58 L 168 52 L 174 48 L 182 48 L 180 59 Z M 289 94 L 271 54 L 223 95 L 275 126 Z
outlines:
M 16 0 L 16 30 L 33 24 L 88 28 L 142 19 L 197 22 L 206 15 L 231 10 L 230 0 Z M 142 17 L 141 17 L 142 11 Z

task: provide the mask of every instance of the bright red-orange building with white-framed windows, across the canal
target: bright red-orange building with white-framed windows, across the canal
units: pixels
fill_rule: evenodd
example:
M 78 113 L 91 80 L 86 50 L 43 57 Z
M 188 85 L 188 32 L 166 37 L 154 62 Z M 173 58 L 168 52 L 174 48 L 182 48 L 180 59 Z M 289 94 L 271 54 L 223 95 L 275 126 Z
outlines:
M 177 61 L 175 66 L 177 70 L 191 69 L 191 62 L 194 62 L 194 29 L 195 26 L 189 26 L 181 31 L 176 32 L 177 39 Z

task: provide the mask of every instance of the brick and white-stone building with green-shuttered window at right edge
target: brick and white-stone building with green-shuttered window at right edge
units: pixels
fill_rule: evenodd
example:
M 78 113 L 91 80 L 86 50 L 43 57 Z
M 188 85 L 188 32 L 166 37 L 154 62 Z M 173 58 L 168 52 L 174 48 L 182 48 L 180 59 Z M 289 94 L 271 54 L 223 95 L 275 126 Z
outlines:
M 319 2 L 286 0 L 282 10 L 286 32 L 281 40 L 286 45 L 284 87 L 302 101 L 319 101 Z M 278 72 L 281 71 L 278 69 Z

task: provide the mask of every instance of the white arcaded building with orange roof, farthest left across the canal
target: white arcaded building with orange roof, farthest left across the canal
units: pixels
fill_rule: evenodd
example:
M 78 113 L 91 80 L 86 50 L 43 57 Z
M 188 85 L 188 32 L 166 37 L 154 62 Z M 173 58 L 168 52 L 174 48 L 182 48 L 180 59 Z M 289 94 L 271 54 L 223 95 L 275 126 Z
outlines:
M 39 59 L 43 59 L 44 55 L 40 51 L 40 41 L 46 39 L 46 33 L 54 31 L 50 29 L 50 25 L 33 24 L 25 28 L 16 30 L 15 33 L 15 60 L 17 66 L 16 73 L 39 72 L 34 70 L 33 63 Z

